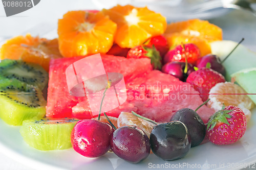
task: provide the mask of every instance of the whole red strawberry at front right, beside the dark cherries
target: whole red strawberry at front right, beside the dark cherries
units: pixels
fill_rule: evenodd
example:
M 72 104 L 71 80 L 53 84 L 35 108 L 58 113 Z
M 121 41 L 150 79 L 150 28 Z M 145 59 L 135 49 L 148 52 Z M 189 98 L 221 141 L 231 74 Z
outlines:
M 221 110 L 211 115 L 206 137 L 214 144 L 231 144 L 238 141 L 246 131 L 244 112 L 236 106 L 223 104 Z

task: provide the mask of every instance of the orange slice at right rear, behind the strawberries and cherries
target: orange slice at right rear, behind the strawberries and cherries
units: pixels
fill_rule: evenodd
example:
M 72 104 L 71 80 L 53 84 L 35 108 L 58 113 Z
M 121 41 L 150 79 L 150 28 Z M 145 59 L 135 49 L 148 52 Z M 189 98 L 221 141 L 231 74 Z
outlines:
M 222 40 L 222 29 L 205 20 L 190 19 L 169 23 L 164 33 L 169 47 L 194 43 L 202 56 L 211 53 L 210 42 Z

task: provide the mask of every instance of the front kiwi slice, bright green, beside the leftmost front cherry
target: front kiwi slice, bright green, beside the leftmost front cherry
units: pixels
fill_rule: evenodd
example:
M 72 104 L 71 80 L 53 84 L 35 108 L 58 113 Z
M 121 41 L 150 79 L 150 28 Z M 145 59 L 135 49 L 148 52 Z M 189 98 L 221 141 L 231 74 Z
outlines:
M 78 119 L 25 120 L 19 132 L 23 139 L 41 151 L 71 148 L 70 135 Z

